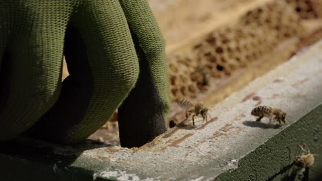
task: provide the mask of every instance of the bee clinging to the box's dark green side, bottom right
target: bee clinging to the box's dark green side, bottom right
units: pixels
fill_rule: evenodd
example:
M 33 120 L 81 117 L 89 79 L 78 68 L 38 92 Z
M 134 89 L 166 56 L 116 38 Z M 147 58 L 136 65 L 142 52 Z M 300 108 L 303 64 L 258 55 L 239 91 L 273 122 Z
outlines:
M 302 145 L 299 144 L 299 147 L 303 150 L 303 154 L 301 156 L 294 156 L 296 159 L 294 165 L 301 168 L 308 168 L 314 164 L 314 156 L 316 154 L 311 154 L 310 149 L 305 143 Z

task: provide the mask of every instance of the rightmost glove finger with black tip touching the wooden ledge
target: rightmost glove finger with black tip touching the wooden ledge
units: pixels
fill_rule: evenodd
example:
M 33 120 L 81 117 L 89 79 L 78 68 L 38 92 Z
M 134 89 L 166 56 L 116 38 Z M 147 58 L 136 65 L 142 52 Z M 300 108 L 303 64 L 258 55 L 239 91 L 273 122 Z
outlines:
M 120 3 L 140 59 L 136 87 L 118 110 L 120 142 L 123 147 L 139 147 L 166 131 L 169 98 L 164 39 L 147 1 Z

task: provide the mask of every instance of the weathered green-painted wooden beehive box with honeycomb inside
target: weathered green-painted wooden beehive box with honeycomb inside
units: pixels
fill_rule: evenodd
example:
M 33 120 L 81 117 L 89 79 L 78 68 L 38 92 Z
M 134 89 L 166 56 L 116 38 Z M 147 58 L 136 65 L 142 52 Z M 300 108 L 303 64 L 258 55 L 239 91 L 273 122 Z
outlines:
M 304 179 L 319 180 L 322 42 L 307 46 L 321 38 L 320 1 L 202 0 L 197 1 L 200 6 L 195 0 L 152 2 L 165 3 L 153 7 L 158 7 L 154 12 L 170 43 L 169 118 L 173 123 L 184 120 L 184 110 L 175 102 L 183 97 L 213 108 L 211 120 L 204 123 L 198 118 L 195 127 L 190 119 L 182 121 L 151 143 L 132 149 L 115 146 L 117 114 L 91 136 L 108 144 L 85 141 L 64 146 L 19 138 L 1 145 L 2 178 L 290 180 L 301 174 L 293 163 L 302 153 L 297 144 L 305 142 L 320 156 L 314 167 L 305 169 L 310 174 Z M 158 15 L 173 10 L 182 14 L 178 32 L 169 18 L 162 21 Z M 258 105 L 282 108 L 288 123 L 276 127 L 256 122 L 250 110 Z

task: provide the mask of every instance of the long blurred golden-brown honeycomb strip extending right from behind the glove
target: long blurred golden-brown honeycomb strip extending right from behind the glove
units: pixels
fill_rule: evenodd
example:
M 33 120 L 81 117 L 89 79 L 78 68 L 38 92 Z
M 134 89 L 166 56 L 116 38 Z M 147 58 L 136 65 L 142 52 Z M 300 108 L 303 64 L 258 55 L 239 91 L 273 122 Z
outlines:
M 187 56 L 169 56 L 170 97 L 172 101 L 195 98 L 213 80 L 229 77 L 270 53 L 281 41 L 303 31 L 294 6 L 274 1 L 250 10 L 233 26 L 209 33 Z

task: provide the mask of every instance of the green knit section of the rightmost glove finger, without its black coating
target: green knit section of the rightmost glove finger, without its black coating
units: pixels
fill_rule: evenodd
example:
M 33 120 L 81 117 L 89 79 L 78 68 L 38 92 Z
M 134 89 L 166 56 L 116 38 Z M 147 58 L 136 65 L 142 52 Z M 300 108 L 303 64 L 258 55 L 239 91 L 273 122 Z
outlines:
M 138 45 L 142 48 L 155 80 L 155 86 L 163 102 L 164 112 L 170 110 L 168 96 L 167 65 L 165 62 L 164 38 L 155 21 L 146 0 L 120 0 L 125 16 L 133 34 L 138 37 Z

